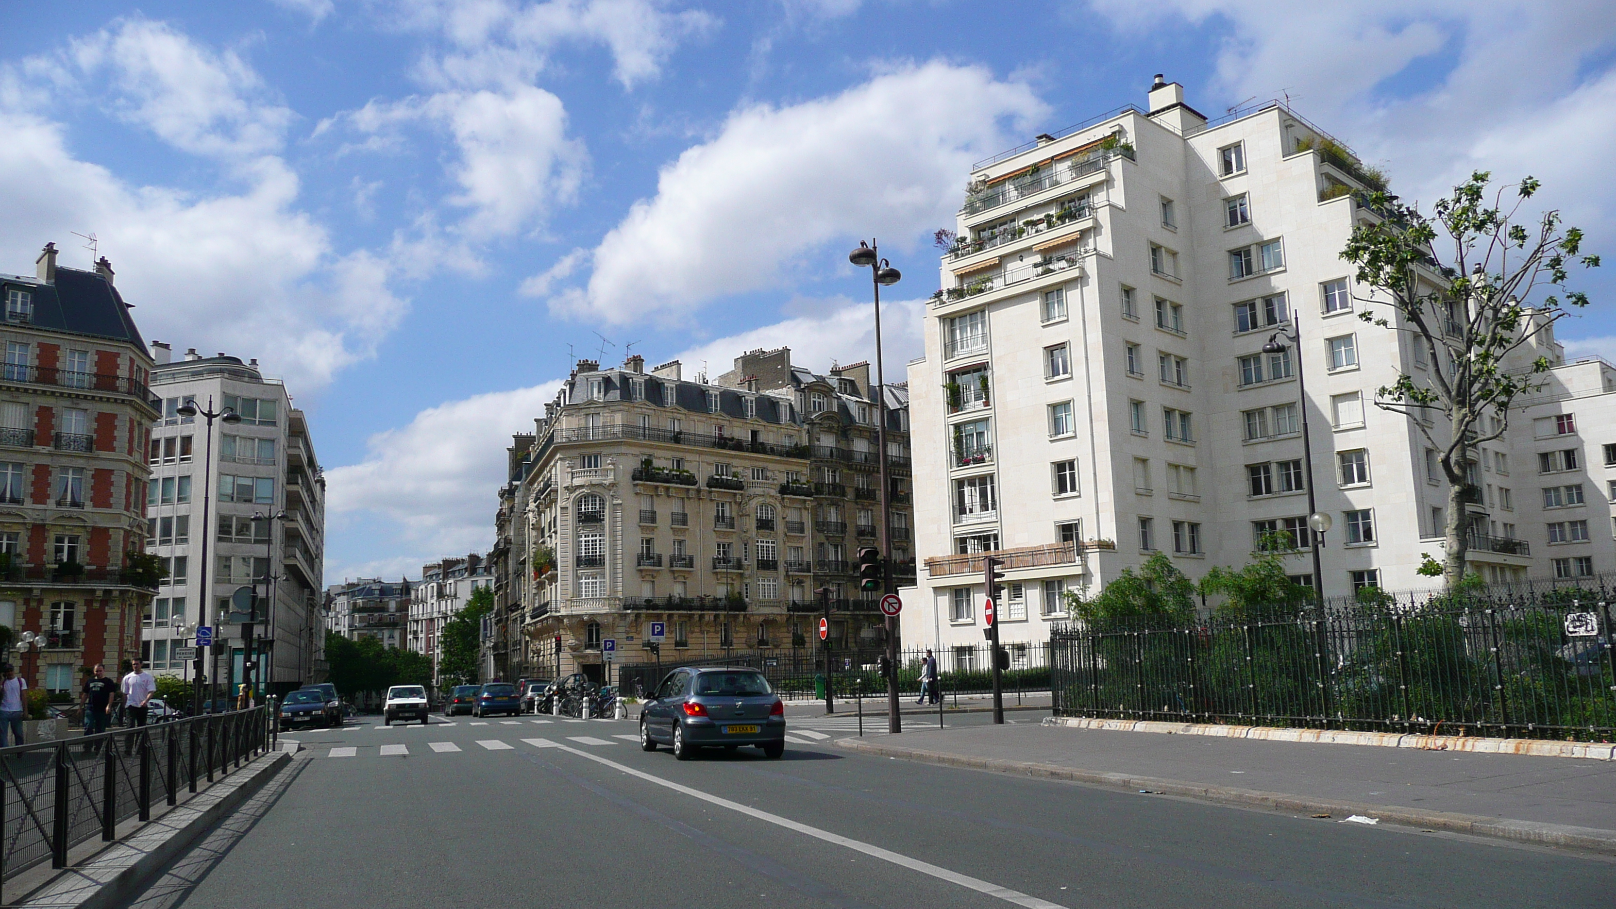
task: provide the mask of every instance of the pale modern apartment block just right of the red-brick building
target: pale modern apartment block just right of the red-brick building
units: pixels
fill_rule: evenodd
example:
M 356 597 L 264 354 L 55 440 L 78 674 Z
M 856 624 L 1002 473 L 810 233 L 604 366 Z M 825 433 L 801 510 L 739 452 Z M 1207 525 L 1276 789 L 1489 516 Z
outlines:
M 259 361 L 204 357 L 192 348 L 171 362 L 170 353 L 168 345 L 152 343 L 152 393 L 163 400 L 163 416 L 152 429 L 145 503 L 147 552 L 166 560 L 170 577 L 142 623 L 141 653 L 154 673 L 191 678 L 191 662 L 178 660 L 175 647 L 192 644 L 184 629 L 202 621 L 197 592 L 205 589 L 215 641 L 231 645 L 229 662 L 221 658 L 210 676 L 234 684 L 242 678 L 242 647 L 241 626 L 229 624 L 229 598 L 241 587 L 257 587 L 260 598 L 270 597 L 267 616 L 260 600 L 254 629 L 265 653 L 267 674 L 260 678 L 280 687 L 318 681 L 325 673 L 325 479 L 309 422 L 292 408 L 286 387 L 259 372 Z M 242 417 L 238 424 L 215 421 L 210 469 L 204 467 L 207 421 L 178 414 L 187 400 Z M 212 477 L 212 529 L 200 526 L 205 472 Z M 202 534 L 210 531 L 210 564 L 204 564 Z

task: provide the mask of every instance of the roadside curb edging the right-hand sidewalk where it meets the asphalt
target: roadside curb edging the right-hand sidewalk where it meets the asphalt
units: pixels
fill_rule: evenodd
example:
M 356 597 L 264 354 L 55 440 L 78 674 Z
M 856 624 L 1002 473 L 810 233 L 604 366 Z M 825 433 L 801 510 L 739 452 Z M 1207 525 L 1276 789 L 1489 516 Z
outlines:
M 1097 770 L 1081 770 L 1060 767 L 1057 763 L 1036 763 L 1023 760 L 1000 760 L 989 757 L 971 757 L 945 754 L 898 746 L 884 746 L 858 739 L 837 739 L 837 746 L 871 754 L 877 757 L 895 757 L 921 763 L 937 763 L 942 767 L 958 767 L 965 770 L 987 770 L 991 773 L 1008 773 L 1012 776 L 1031 776 L 1039 780 L 1065 780 L 1107 789 L 1139 793 L 1149 789 L 1151 794 L 1183 796 L 1202 802 L 1223 805 L 1262 807 L 1278 812 L 1294 814 L 1338 814 L 1369 815 L 1388 823 L 1419 827 L 1425 830 L 1446 830 L 1471 836 L 1490 836 L 1495 839 L 1511 839 L 1516 843 L 1532 843 L 1538 846 L 1559 846 L 1569 849 L 1585 849 L 1616 856 L 1616 830 L 1595 830 L 1592 827 L 1571 827 L 1559 823 L 1542 823 L 1532 820 L 1509 820 L 1483 817 L 1474 814 L 1432 812 L 1409 809 L 1403 805 L 1377 805 L 1369 802 L 1346 802 L 1330 799 L 1311 799 L 1285 793 L 1264 793 L 1260 789 L 1236 789 L 1230 786 L 1210 786 L 1206 783 L 1186 783 L 1183 780 L 1160 780 L 1155 776 L 1131 776 L 1128 773 L 1104 773 Z

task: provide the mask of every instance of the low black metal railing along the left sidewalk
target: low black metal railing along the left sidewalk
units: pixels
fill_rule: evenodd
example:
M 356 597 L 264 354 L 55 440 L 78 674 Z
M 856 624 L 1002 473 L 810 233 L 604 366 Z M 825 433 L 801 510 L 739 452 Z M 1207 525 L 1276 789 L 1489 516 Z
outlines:
M 0 882 L 176 805 L 273 746 L 268 707 L 0 749 Z

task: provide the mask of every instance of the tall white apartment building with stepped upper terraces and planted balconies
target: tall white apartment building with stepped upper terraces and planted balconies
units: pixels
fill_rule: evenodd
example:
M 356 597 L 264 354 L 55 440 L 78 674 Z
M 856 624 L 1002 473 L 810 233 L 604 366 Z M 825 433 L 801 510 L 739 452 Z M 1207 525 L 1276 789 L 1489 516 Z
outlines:
M 1378 217 L 1361 191 L 1382 180 L 1281 104 L 1209 123 L 1160 76 L 1149 110 L 973 168 L 926 307 L 926 356 L 910 364 L 924 569 L 903 592 L 905 645 L 981 644 L 973 553 L 1007 563 L 1000 637 L 1047 641 L 1063 590 L 1097 589 L 1154 552 L 1199 577 L 1249 561 L 1264 534 L 1304 545 L 1309 482 L 1333 527 L 1322 577 L 1309 552 L 1286 556 L 1298 582 L 1325 595 L 1430 586 L 1416 569 L 1422 552 L 1441 558 L 1446 480 L 1412 421 L 1374 406 L 1425 354 L 1396 322 L 1357 319 L 1367 291 L 1340 257 L 1353 226 Z M 1298 325 L 1299 343 L 1262 353 Z M 1527 356 L 1540 353 L 1563 361 L 1551 333 Z M 1616 448 L 1553 454 L 1558 500 L 1535 474 L 1540 450 L 1559 445 L 1537 433 L 1571 403 L 1608 414 L 1611 372 L 1553 375 L 1564 391 L 1526 406 L 1477 458 L 1471 561 L 1488 579 L 1613 568 L 1611 534 L 1572 521 L 1616 488 L 1568 487 Z

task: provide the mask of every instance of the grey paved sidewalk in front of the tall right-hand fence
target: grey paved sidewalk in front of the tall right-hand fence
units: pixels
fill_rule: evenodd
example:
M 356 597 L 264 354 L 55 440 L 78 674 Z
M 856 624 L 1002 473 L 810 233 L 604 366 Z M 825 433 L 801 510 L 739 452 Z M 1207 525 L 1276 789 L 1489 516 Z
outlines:
M 1616 762 L 1018 723 L 837 741 L 866 754 L 1616 854 Z

